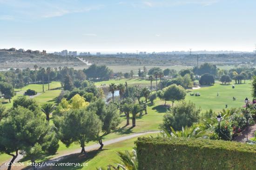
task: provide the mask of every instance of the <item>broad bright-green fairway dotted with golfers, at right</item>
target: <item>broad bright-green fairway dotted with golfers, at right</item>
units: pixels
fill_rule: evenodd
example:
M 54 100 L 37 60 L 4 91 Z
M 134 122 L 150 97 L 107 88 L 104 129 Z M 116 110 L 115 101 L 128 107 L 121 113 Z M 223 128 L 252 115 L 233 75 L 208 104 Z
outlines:
M 235 84 L 235 88 L 232 88 L 232 83 L 230 85 L 222 85 L 216 83 L 210 87 L 203 87 L 200 89 L 190 90 L 187 93 L 186 100 L 192 101 L 197 107 L 202 107 L 202 110 L 213 109 L 213 111 L 221 111 L 225 108 L 241 107 L 244 105 L 244 99 L 248 97 L 251 98 L 251 84 L 247 81 L 245 84 Z M 201 96 L 190 96 L 190 93 L 199 92 Z M 219 96 L 217 96 L 219 93 Z M 233 101 L 233 97 L 236 97 L 236 101 Z

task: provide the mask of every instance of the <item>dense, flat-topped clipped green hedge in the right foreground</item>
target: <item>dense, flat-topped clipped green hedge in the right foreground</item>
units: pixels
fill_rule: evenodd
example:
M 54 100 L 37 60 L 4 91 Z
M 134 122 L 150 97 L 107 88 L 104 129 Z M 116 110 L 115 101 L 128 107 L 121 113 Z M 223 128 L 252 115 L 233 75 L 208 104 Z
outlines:
M 139 170 L 255 170 L 256 145 L 209 139 L 139 138 Z

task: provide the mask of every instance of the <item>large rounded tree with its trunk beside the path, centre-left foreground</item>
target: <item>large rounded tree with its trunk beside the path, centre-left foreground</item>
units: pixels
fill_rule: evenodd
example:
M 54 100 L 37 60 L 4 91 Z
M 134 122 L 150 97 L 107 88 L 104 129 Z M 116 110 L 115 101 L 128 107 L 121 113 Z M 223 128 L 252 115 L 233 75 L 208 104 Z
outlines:
M 81 146 L 81 153 L 86 153 L 85 144 L 96 138 L 101 131 L 101 120 L 92 111 L 71 109 L 61 116 L 57 123 L 61 142 L 67 147 L 77 142 Z

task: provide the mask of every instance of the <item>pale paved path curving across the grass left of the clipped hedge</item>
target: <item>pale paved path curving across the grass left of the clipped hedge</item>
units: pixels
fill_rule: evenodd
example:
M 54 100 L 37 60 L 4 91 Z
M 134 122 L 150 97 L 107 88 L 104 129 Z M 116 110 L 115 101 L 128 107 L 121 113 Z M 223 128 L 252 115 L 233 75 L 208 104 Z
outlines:
M 114 143 L 121 142 L 121 141 L 124 141 L 124 140 L 127 140 L 127 139 L 132 139 L 132 138 L 135 138 L 135 137 L 138 137 L 138 136 L 141 136 L 141 135 L 158 133 L 158 132 L 160 132 L 160 131 L 147 131 L 147 132 L 134 133 L 132 135 L 128 135 L 128 136 L 119 137 L 119 138 L 116 138 L 116 139 L 110 139 L 110 140 L 107 140 L 107 141 L 103 141 L 103 144 L 104 144 L 104 146 L 106 146 L 106 145 L 114 144 Z M 91 150 L 98 149 L 99 147 L 100 147 L 99 144 L 94 144 L 94 145 L 86 146 L 85 150 L 86 151 L 91 151 Z M 80 152 L 81 152 L 81 148 L 74 149 L 73 151 L 69 151 L 68 153 L 65 153 L 65 154 L 62 154 L 62 155 L 57 155 L 56 157 L 54 157 L 54 159 L 48 160 L 47 163 L 57 163 L 57 162 L 61 161 L 62 159 L 68 157 L 68 155 L 75 154 L 75 153 L 80 153 Z M 14 162 L 19 162 L 19 160 L 22 157 L 23 156 L 19 154 Z M 2 164 L 0 166 L 0 170 L 6 170 L 6 169 L 7 169 L 7 166 L 5 164 Z M 40 170 L 40 169 L 43 169 L 43 167 L 38 167 L 37 168 L 37 170 Z

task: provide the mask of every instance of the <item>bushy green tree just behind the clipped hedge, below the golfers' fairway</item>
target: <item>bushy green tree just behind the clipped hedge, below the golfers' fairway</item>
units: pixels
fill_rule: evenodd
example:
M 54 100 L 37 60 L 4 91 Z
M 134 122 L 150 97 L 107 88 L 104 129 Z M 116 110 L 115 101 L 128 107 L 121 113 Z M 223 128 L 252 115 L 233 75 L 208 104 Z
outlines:
M 200 112 L 201 109 L 196 108 L 191 101 L 181 101 L 164 115 L 161 127 L 167 129 L 169 133 L 172 132 L 170 127 L 175 130 L 182 130 L 185 126 L 190 127 L 198 121 Z

